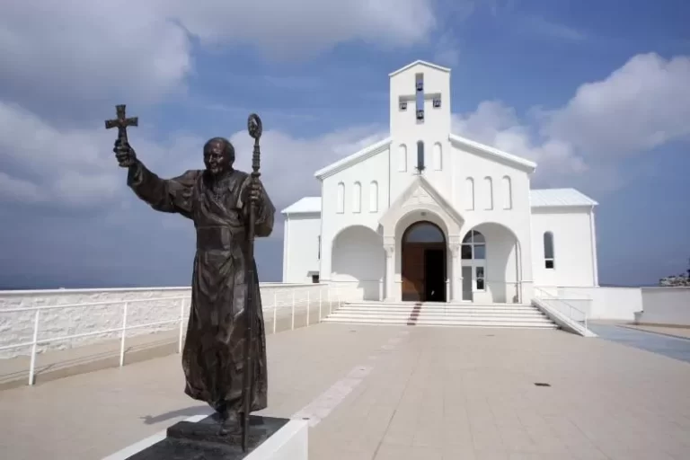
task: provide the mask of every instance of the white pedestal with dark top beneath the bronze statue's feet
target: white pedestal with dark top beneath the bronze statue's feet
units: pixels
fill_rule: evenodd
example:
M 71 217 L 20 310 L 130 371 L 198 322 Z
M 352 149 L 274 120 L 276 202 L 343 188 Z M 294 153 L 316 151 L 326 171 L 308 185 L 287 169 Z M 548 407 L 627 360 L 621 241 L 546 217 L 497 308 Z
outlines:
M 252 415 L 247 452 L 238 433 L 222 433 L 211 416 L 181 421 L 107 460 L 306 460 L 305 420 Z

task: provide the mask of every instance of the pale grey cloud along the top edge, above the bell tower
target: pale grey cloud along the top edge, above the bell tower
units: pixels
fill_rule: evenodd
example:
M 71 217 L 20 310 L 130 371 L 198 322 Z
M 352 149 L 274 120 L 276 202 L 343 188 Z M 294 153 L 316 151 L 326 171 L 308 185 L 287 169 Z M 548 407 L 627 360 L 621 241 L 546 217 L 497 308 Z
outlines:
M 248 43 L 273 57 L 309 56 L 348 40 L 407 46 L 436 25 L 431 0 L 161 2 L 204 42 Z

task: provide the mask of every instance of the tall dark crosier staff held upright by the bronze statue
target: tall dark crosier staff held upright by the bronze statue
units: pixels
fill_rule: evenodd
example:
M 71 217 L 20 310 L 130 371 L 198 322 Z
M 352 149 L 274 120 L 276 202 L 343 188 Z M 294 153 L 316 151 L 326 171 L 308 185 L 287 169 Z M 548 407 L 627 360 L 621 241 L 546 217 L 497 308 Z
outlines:
M 252 113 L 247 119 L 247 130 L 249 135 L 254 139 L 254 150 L 252 152 L 252 174 L 249 183 L 250 190 L 255 182 L 259 179 L 259 166 L 261 162 L 261 148 L 259 146 L 259 138 L 263 131 L 261 126 L 261 119 L 256 113 Z M 249 433 L 249 414 L 252 411 L 252 386 L 254 384 L 253 368 L 252 368 L 252 343 L 254 339 L 254 312 L 252 305 L 254 302 L 254 291 L 256 285 L 254 284 L 254 225 L 256 221 L 256 201 L 250 199 L 249 202 L 249 225 L 247 229 L 247 296 L 245 296 L 244 304 L 244 318 L 246 321 L 246 336 L 244 338 L 244 375 L 243 375 L 243 412 L 242 412 L 242 450 L 247 451 L 247 437 Z

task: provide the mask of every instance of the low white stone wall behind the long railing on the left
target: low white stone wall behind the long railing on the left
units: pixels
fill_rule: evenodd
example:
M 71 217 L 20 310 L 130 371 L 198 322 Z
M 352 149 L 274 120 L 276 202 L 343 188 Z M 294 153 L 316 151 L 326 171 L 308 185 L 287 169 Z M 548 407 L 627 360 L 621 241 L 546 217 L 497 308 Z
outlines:
M 326 302 L 348 296 L 346 287 L 327 284 L 261 283 L 263 309 L 289 308 L 294 302 L 303 305 L 307 301 L 318 302 L 319 296 Z M 351 293 L 349 294 L 351 296 Z M 156 299 L 167 300 L 156 300 Z M 142 300 L 133 302 L 134 300 Z M 186 330 L 190 308 L 190 288 L 115 288 L 115 289 L 57 289 L 31 291 L 0 291 L 0 348 L 19 343 L 31 343 L 35 306 L 73 305 L 112 302 L 108 305 L 71 306 L 40 310 L 39 340 L 68 335 L 100 332 L 122 327 L 124 305 L 128 302 L 128 328 L 137 324 L 177 321 L 157 326 L 128 330 L 127 336 L 171 330 L 180 327 L 181 302 L 184 302 L 183 327 Z M 17 312 L 6 310 L 19 309 Z M 22 311 L 22 309 L 27 309 Z M 120 336 L 109 332 L 67 341 L 40 344 L 39 351 L 67 349 Z M 0 358 L 11 358 L 31 353 L 31 346 L 0 350 Z

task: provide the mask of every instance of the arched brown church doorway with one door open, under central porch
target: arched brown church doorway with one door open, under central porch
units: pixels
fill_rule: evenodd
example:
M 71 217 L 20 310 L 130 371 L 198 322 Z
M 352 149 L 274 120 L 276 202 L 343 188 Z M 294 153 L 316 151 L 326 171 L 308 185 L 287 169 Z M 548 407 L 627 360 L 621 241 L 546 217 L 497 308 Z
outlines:
M 407 227 L 402 241 L 403 301 L 446 302 L 446 235 L 429 221 Z

